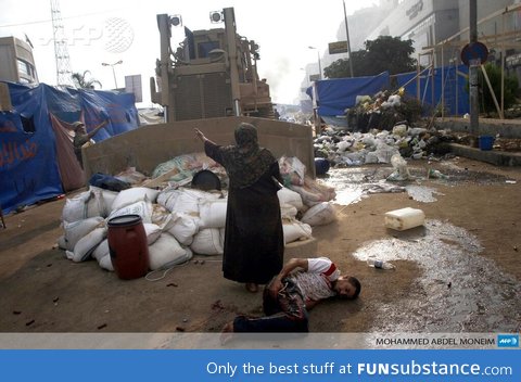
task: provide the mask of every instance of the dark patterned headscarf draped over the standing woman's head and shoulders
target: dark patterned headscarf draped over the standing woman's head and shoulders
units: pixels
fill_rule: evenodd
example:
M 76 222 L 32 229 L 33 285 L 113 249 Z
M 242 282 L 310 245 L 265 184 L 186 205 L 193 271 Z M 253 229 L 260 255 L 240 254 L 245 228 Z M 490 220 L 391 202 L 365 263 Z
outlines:
M 257 129 L 242 123 L 236 127 L 236 145 L 223 148 L 223 165 L 236 188 L 255 183 L 277 160 L 267 149 L 259 148 Z

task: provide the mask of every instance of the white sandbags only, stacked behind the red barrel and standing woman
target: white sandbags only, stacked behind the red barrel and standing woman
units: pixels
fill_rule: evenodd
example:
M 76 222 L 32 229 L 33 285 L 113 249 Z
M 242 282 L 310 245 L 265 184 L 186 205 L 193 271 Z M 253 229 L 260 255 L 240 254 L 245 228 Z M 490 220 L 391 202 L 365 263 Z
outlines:
M 307 187 L 302 182 L 302 187 Z M 301 191 L 302 192 L 302 191 Z M 314 213 L 301 193 L 282 188 L 278 192 L 283 221 L 284 243 L 312 237 L 312 226 L 331 221 L 321 200 Z M 326 203 L 328 204 L 328 203 Z M 329 209 L 329 208 L 326 208 Z M 223 191 L 201 191 L 167 187 L 162 191 L 135 187 L 120 192 L 90 187 L 67 199 L 62 212 L 64 234 L 59 245 L 73 262 L 96 258 L 114 270 L 107 243 L 107 222 L 122 215 L 141 217 L 149 245 L 150 269 L 163 269 L 189 260 L 193 254 L 221 255 L 226 225 L 227 198 Z M 332 209 L 331 209 L 332 211 Z M 306 221 L 297 219 L 305 216 Z M 322 217 L 319 217 L 322 216 Z

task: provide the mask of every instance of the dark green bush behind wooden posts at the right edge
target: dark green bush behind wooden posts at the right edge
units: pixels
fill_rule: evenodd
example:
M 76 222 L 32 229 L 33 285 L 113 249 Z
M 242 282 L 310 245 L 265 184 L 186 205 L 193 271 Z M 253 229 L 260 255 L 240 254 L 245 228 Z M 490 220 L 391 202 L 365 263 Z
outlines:
M 501 99 L 501 68 L 492 63 L 485 64 L 485 71 L 491 80 L 492 89 L 496 94 L 497 102 L 500 103 Z M 486 84 L 483 72 L 479 71 L 479 84 L 480 84 L 480 112 L 495 113 L 496 106 L 494 99 Z M 516 92 L 518 91 L 518 78 L 514 75 L 505 75 L 505 109 L 512 106 L 516 103 Z

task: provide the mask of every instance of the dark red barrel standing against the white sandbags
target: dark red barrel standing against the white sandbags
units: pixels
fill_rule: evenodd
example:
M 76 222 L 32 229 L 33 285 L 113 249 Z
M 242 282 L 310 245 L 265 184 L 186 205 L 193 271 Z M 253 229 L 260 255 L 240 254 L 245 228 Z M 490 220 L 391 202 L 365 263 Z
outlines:
M 123 215 L 109 220 L 109 251 L 116 275 L 137 279 L 149 270 L 149 245 L 139 215 Z

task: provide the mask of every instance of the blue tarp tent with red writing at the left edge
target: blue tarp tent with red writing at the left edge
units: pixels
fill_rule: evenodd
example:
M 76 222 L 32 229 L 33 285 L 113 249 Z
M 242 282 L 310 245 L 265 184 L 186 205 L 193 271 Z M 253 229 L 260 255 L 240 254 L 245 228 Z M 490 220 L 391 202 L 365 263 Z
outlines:
M 103 120 L 94 141 L 139 127 L 134 94 L 5 82 L 13 109 L 0 112 L 0 205 L 5 213 L 85 184 L 71 125 L 87 131 Z

